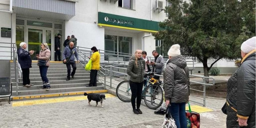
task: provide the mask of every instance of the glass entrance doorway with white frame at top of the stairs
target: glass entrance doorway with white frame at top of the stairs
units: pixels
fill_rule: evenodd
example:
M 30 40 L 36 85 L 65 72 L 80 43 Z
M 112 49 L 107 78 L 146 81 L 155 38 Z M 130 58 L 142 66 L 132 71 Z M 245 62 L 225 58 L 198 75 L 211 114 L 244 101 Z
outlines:
M 36 59 L 36 54 L 39 54 L 41 50 L 41 43 L 47 43 L 49 49 L 51 50 L 52 56 L 52 30 L 47 28 L 37 28 L 37 27 L 28 27 L 27 28 L 28 35 L 28 51 L 34 50 L 35 53 L 31 55 L 32 60 Z M 50 59 L 51 60 L 51 59 Z

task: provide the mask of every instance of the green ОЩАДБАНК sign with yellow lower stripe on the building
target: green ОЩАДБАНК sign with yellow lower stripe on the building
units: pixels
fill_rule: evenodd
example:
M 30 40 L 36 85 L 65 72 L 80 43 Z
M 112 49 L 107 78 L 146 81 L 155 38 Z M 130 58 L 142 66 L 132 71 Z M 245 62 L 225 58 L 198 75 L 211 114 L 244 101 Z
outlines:
M 98 25 L 148 32 L 158 31 L 158 22 L 98 12 Z

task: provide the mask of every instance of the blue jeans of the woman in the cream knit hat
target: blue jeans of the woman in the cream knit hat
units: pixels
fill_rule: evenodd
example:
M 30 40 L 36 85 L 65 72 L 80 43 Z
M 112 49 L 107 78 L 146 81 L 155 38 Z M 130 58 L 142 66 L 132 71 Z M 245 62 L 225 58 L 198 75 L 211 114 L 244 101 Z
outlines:
M 172 118 L 177 128 L 187 128 L 187 118 L 185 114 L 186 103 L 171 103 Z

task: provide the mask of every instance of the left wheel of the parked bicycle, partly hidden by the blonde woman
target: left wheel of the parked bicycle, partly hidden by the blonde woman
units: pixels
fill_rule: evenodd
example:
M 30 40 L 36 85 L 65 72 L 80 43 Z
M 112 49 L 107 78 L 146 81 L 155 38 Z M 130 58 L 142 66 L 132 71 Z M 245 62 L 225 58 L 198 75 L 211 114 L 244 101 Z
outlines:
M 122 81 L 117 85 L 116 96 L 121 101 L 131 102 L 132 91 L 128 80 Z

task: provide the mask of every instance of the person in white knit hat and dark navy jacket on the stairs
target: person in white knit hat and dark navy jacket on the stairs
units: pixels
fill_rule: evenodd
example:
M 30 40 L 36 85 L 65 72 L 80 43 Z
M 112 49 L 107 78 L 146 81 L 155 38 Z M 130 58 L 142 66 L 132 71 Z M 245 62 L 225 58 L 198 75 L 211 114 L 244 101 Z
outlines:
M 20 48 L 17 50 L 18 54 L 18 62 L 20 63 L 20 67 L 22 70 L 22 81 L 24 87 L 30 87 L 34 84 L 30 83 L 29 79 L 29 68 L 32 68 L 32 60 L 30 57 L 30 54 L 32 55 L 34 53 L 33 50 L 30 50 L 29 52 L 26 51 L 27 44 L 25 42 L 20 43 Z

